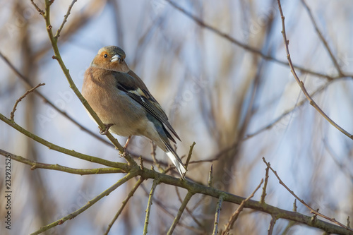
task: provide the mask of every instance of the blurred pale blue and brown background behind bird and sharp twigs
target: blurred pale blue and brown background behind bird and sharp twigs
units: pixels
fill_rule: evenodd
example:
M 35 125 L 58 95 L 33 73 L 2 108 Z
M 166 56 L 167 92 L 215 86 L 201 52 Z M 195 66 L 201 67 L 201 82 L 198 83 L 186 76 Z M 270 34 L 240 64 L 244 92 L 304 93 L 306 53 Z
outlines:
M 44 8 L 42 0 L 35 1 Z M 59 37 L 59 49 L 79 89 L 83 73 L 98 49 L 116 45 L 126 61 L 166 111 L 181 137 L 177 152 L 196 146 L 188 176 L 207 184 L 213 164 L 214 186 L 247 197 L 265 176 L 262 157 L 299 198 L 328 217 L 345 223 L 353 215 L 353 142 L 337 131 L 305 100 L 287 66 L 277 1 L 175 1 L 199 22 L 164 0 L 78 1 Z M 54 1 L 54 32 L 71 1 Z M 299 78 L 333 121 L 353 133 L 353 2 L 308 1 L 342 74 L 318 37 L 301 1 L 285 1 L 289 52 Z M 226 36 L 205 28 L 210 25 Z M 231 37 L 232 40 L 226 37 Z M 240 42 L 237 43 L 237 42 Z M 0 52 L 59 109 L 98 134 L 68 86 L 47 37 L 44 19 L 28 0 L 0 1 Z M 265 55 L 265 56 L 263 56 Z M 29 89 L 0 58 L 0 112 L 9 118 L 16 100 Z M 30 94 L 18 104 L 15 121 L 61 147 L 124 162 L 111 145 L 82 131 Z M 100 136 L 104 138 L 104 136 Z M 119 137 L 124 144 L 126 138 Z M 101 167 L 49 150 L 0 122 L 0 148 L 38 162 L 73 168 Z M 133 138 L 129 151 L 147 162 L 151 143 Z M 157 159 L 167 162 L 157 150 Z M 185 158 L 184 158 L 185 161 Z M 201 161 L 201 162 L 200 162 Z M 0 157 L 0 172 L 5 169 Z M 155 168 L 157 169 L 157 168 Z M 177 174 L 173 173 L 174 176 Z M 12 161 L 12 227 L 0 234 L 29 234 L 82 207 L 121 179 L 121 174 L 79 176 L 46 169 L 30 170 Z M 0 176 L 4 195 L 4 176 Z M 103 234 L 132 179 L 75 219 L 46 234 Z M 110 234 L 142 234 L 152 181 L 143 183 Z M 147 193 L 146 193 L 147 192 Z M 266 203 L 292 210 L 294 197 L 273 174 Z M 186 191 L 179 189 L 181 198 Z M 261 192 L 254 200 L 260 200 Z M 3 196 L 0 215 L 6 213 Z M 174 234 L 210 234 L 217 200 L 194 195 Z M 149 234 L 165 234 L 180 206 L 177 189 L 159 185 L 152 205 Z M 303 205 L 298 211 L 309 215 Z M 220 229 L 237 205 L 223 203 Z M 192 214 L 192 216 L 191 216 Z M 244 210 L 233 234 L 267 234 L 270 215 Z M 1 219 L 2 221 L 3 219 Z M 322 234 L 323 231 L 280 219 L 274 234 Z

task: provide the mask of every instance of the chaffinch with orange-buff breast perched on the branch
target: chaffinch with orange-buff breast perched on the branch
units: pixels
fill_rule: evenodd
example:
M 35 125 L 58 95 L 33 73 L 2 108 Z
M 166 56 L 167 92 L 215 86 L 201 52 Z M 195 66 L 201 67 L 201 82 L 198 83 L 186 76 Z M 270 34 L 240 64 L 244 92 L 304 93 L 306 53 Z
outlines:
M 109 131 L 129 138 L 131 135 L 149 138 L 167 152 L 185 179 L 184 164 L 169 143 L 169 140 L 175 143 L 171 133 L 180 138 L 145 83 L 128 68 L 121 48 L 107 46 L 98 51 L 85 71 L 82 95 Z

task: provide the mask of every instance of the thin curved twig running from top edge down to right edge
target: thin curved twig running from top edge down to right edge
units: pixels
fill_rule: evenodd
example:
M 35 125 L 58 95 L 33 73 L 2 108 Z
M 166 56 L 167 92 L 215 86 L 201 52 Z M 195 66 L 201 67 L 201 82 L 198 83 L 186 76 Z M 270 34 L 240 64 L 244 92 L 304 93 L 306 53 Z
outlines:
M 306 96 L 306 99 L 309 100 L 309 103 L 333 126 L 335 126 L 335 128 L 337 128 L 337 130 L 341 131 L 342 133 L 344 133 L 345 135 L 347 135 L 349 138 L 351 138 L 353 140 L 353 135 L 348 133 L 347 131 L 345 131 L 345 129 L 343 129 L 342 127 L 338 126 L 337 123 L 335 123 L 335 121 L 333 121 L 332 119 L 330 119 L 330 117 L 328 117 L 327 114 L 325 114 L 325 112 L 323 112 L 323 110 L 318 107 L 318 104 L 316 104 L 315 101 L 313 101 L 313 98 L 311 98 L 311 96 L 309 95 L 309 92 L 306 90 L 305 85 L 303 83 L 303 81 L 301 81 L 299 79 L 299 77 L 297 76 L 297 73 L 294 70 L 294 66 L 292 64 L 292 59 L 290 59 L 290 54 L 289 54 L 289 41 L 287 40 L 287 35 L 286 35 L 286 31 L 285 31 L 285 16 L 283 16 L 283 12 L 282 12 L 282 6 L 281 6 L 281 2 L 280 0 L 277 0 L 278 3 L 278 8 L 280 9 L 280 14 L 281 14 L 281 18 L 282 18 L 282 35 L 283 35 L 283 40 L 285 41 L 285 49 L 287 52 L 287 59 L 288 59 L 288 63 L 289 63 L 289 67 L 291 69 L 291 72 L 295 78 L 295 80 L 297 80 L 297 83 L 299 84 L 301 90 L 303 91 L 304 95 Z

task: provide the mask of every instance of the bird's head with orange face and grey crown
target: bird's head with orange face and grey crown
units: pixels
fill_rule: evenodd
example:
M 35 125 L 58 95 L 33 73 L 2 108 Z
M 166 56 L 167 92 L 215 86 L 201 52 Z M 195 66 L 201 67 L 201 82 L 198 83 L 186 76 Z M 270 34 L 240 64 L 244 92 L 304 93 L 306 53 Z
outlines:
M 93 59 L 91 66 L 123 73 L 130 71 L 125 63 L 125 52 L 120 47 L 115 46 L 101 48 Z

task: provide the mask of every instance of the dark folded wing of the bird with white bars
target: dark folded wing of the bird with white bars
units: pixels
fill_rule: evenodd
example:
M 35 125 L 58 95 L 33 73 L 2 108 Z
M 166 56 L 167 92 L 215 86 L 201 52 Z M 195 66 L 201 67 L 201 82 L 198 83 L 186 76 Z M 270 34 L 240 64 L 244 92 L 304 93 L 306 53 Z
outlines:
M 133 100 L 142 105 L 152 116 L 154 116 L 158 121 L 162 122 L 170 131 L 180 140 L 177 133 L 174 131 L 172 126 L 168 121 L 167 115 L 164 113 L 160 104 L 157 100 L 150 94 L 145 83 L 135 74 L 133 71 L 128 73 L 114 72 L 114 78 L 116 79 L 116 88 L 126 92 L 126 94 Z M 167 131 L 166 134 L 169 139 L 174 143 L 175 140 L 172 138 Z

